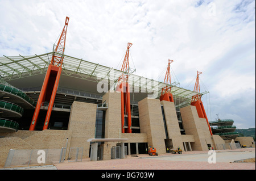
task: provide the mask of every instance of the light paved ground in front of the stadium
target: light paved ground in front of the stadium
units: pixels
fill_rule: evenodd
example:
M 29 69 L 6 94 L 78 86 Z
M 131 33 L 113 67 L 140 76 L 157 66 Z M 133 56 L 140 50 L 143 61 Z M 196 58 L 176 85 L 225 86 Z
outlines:
M 166 153 L 158 157 L 139 154 L 126 159 L 92 162 L 58 163 L 56 165 L 23 167 L 26 170 L 255 170 L 255 163 L 234 163 L 234 161 L 255 158 L 255 148 L 237 150 L 216 150 L 216 163 L 208 163 L 208 151 L 187 151 L 183 154 Z M 18 168 L 16 168 L 18 169 Z

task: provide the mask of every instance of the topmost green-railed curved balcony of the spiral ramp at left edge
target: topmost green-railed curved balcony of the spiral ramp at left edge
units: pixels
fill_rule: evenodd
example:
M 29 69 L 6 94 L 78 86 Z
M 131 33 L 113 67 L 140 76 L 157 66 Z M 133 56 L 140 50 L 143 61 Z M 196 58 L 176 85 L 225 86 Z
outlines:
M 0 83 L 0 98 L 8 100 L 8 102 L 18 104 L 24 108 L 32 108 L 36 106 L 35 100 L 30 98 L 26 93 L 16 89 L 15 87 L 4 85 L 2 83 Z

